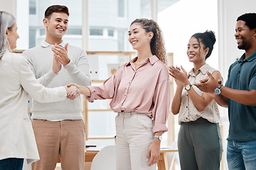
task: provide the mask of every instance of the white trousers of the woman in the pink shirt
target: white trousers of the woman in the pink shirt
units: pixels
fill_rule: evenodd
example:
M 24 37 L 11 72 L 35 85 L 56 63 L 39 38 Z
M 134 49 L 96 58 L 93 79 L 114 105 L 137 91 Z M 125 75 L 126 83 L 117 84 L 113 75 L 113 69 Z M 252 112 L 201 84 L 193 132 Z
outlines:
M 115 124 L 117 170 L 155 170 L 156 164 L 148 167 L 146 161 L 153 142 L 153 120 L 142 113 L 118 113 Z

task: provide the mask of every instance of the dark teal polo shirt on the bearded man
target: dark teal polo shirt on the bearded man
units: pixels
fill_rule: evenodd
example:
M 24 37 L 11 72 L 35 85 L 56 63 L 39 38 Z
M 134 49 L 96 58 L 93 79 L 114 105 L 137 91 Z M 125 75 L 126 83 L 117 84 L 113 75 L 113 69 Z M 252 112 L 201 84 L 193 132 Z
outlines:
M 247 59 L 243 54 L 240 60 L 230 66 L 225 86 L 238 90 L 256 90 L 256 51 Z M 238 142 L 256 140 L 255 106 L 245 106 L 228 99 L 228 118 L 230 120 L 228 140 Z

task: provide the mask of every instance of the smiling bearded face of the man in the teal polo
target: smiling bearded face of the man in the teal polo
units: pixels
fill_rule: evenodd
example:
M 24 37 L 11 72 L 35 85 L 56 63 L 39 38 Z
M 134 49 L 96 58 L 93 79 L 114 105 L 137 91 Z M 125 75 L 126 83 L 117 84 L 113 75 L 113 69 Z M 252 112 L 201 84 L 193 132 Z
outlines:
M 245 21 L 239 20 L 235 27 L 235 40 L 238 43 L 238 49 L 248 50 L 252 46 L 253 30 L 245 25 Z

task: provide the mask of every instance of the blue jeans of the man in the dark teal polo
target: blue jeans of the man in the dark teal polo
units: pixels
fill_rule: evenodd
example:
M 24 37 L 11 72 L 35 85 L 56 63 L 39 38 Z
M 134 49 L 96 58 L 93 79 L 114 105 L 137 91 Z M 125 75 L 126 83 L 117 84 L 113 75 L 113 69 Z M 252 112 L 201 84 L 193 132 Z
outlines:
M 256 140 L 252 142 L 235 142 L 228 140 L 228 169 L 256 169 Z

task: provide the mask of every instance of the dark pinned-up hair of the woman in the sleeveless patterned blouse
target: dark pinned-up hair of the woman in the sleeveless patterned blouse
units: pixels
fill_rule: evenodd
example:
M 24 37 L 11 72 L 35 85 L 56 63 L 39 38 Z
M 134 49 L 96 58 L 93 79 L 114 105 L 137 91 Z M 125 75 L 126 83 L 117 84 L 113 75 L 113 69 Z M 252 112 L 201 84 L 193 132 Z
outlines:
M 213 52 L 213 45 L 216 42 L 215 34 L 212 30 L 206 30 L 204 33 L 195 33 L 191 36 L 191 38 L 196 38 L 198 42 L 203 44 L 203 50 L 209 48 L 208 54 L 206 55 L 206 59 L 210 57 L 211 52 Z

